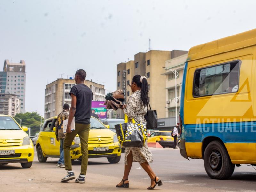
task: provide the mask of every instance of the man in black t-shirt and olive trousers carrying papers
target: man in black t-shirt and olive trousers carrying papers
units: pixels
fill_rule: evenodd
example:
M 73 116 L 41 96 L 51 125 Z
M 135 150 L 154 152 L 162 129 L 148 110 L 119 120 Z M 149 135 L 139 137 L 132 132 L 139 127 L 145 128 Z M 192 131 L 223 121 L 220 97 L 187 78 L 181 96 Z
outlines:
M 68 170 L 68 174 L 61 180 L 67 182 L 75 179 L 75 174 L 72 171 L 71 158 L 70 158 L 70 146 L 78 134 L 81 141 L 81 172 L 76 179 L 76 183 L 84 183 L 85 175 L 88 164 L 88 137 L 90 130 L 90 118 L 93 93 L 89 87 L 84 84 L 86 72 L 83 69 L 79 69 L 75 74 L 76 86 L 73 86 L 70 90 L 71 107 L 68 117 L 67 134 L 64 140 L 64 159 L 65 169 Z M 71 122 L 75 117 L 75 130 L 71 131 Z

